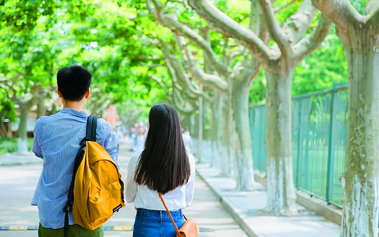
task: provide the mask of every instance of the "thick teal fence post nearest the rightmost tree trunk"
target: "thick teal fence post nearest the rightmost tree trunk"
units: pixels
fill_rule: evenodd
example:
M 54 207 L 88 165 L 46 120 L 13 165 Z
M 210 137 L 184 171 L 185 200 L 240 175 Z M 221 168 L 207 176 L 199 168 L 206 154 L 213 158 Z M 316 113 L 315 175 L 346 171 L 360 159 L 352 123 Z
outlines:
M 335 88 L 334 88 L 335 89 Z M 336 117 L 335 99 L 337 90 L 332 92 L 332 103 L 330 105 L 330 130 L 329 130 L 329 145 L 328 145 L 328 168 L 327 168 L 327 178 L 326 178 L 326 202 L 329 205 L 333 197 L 333 178 L 334 178 L 334 123 Z

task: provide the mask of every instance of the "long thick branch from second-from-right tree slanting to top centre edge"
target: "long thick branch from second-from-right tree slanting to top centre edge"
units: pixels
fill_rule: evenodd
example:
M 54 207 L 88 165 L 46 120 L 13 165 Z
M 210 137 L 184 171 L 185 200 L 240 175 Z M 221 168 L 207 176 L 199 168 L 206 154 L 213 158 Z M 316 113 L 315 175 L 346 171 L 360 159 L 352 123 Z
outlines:
M 207 20 L 209 25 L 219 33 L 240 41 L 260 61 L 279 58 L 280 55 L 271 51 L 256 34 L 232 20 L 208 0 L 189 0 L 188 3 L 192 8 L 196 9 L 197 14 Z

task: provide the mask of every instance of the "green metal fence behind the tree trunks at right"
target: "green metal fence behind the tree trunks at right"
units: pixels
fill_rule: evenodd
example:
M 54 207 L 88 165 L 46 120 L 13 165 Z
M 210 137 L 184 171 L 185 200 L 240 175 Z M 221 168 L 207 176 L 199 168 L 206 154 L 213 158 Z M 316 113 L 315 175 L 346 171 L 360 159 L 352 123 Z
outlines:
M 292 99 L 293 175 L 296 188 L 342 206 L 339 177 L 345 169 L 347 88 Z M 250 108 L 253 164 L 266 172 L 266 107 Z

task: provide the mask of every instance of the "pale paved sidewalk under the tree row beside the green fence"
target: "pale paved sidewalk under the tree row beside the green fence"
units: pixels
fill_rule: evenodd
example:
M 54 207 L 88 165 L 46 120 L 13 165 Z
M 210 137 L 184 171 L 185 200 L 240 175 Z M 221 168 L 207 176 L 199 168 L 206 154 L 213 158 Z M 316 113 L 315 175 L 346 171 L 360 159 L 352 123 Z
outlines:
M 255 183 L 255 191 L 239 192 L 231 177 L 219 176 L 220 170 L 197 164 L 197 173 L 221 200 L 224 207 L 249 236 L 258 237 L 339 237 L 340 226 L 298 205 L 295 217 L 268 216 L 258 213 L 265 208 L 266 187 Z M 235 235 L 237 236 L 237 235 Z

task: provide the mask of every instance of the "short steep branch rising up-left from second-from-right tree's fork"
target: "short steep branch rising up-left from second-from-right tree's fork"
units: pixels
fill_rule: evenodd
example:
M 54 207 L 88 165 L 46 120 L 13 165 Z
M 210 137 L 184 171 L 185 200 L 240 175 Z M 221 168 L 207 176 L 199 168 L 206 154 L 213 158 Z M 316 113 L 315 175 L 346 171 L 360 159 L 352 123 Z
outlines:
M 265 19 L 268 32 L 270 33 L 271 38 L 278 45 L 282 57 L 288 58 L 288 49 L 290 48 L 290 42 L 288 39 L 283 37 L 282 29 L 280 28 L 279 23 L 277 22 L 274 14 L 273 6 L 269 0 L 258 0 L 262 9 L 263 19 Z

